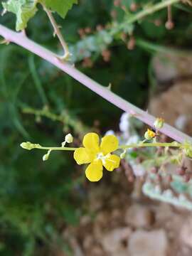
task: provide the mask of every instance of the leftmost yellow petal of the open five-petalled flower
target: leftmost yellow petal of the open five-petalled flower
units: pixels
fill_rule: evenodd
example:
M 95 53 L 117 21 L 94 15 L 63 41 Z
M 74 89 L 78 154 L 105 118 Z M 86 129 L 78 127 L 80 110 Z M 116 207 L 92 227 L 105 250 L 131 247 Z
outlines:
M 95 159 L 95 154 L 92 154 L 87 149 L 80 147 L 75 149 L 73 157 L 78 164 L 89 164 L 93 159 Z

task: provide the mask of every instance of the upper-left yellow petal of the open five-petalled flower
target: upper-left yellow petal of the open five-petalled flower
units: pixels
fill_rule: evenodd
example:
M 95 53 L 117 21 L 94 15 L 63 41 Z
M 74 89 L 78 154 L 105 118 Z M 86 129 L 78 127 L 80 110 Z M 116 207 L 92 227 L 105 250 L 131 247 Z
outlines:
M 89 149 L 90 151 L 100 151 L 99 136 L 95 132 L 87 133 L 82 140 L 82 144 L 86 149 Z

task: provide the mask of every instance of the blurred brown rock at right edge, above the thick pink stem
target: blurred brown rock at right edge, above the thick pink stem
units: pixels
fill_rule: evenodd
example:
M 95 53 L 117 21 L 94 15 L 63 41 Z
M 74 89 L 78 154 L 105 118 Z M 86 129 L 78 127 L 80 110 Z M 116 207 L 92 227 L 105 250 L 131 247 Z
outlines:
M 165 92 L 151 97 L 148 110 L 155 117 L 164 118 L 165 122 L 192 135 L 192 80 L 176 82 Z

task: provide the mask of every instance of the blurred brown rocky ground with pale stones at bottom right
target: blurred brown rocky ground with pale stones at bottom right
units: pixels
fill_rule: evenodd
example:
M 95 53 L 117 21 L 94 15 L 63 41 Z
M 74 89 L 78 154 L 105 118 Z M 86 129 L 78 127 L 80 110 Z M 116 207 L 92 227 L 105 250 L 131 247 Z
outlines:
M 63 234 L 74 256 L 192 255 L 192 215 L 186 210 L 105 186 L 92 188 L 87 203 L 92 214 Z

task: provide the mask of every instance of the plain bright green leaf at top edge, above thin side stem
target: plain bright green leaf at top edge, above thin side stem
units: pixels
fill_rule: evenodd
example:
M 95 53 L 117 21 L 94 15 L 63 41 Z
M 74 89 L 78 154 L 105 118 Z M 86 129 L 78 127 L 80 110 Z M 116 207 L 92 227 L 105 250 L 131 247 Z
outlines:
M 78 4 L 78 0 L 43 0 L 48 9 L 56 11 L 62 18 L 65 18 L 73 4 Z

